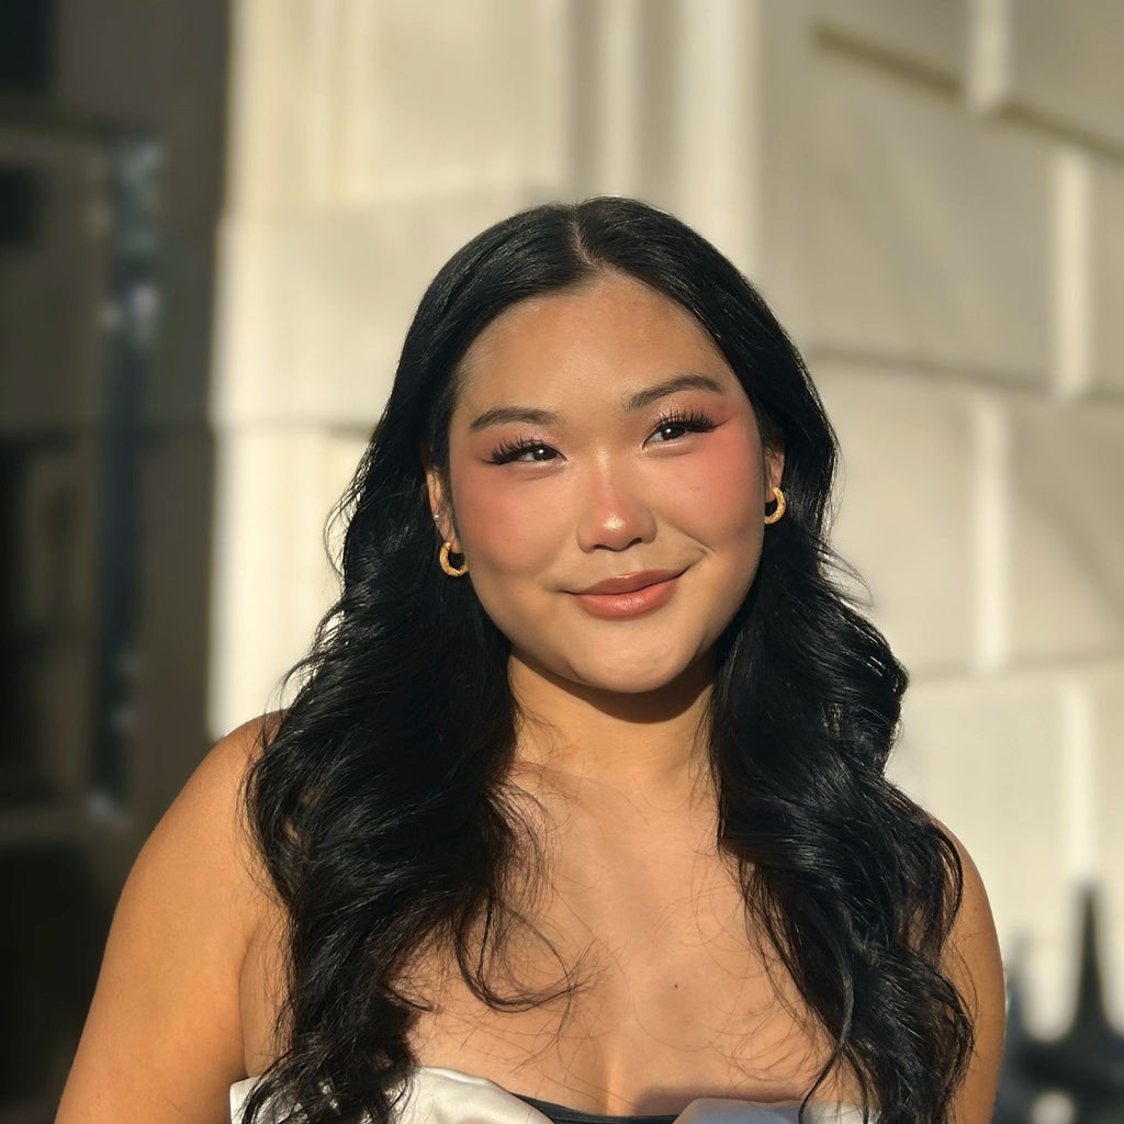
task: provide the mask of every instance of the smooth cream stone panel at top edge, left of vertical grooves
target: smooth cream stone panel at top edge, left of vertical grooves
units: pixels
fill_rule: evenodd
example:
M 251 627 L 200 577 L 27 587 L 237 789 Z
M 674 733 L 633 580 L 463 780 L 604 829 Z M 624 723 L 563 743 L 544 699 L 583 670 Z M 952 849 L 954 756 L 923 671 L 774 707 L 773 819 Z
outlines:
M 348 201 L 554 185 L 564 155 L 563 6 L 351 4 L 342 62 Z

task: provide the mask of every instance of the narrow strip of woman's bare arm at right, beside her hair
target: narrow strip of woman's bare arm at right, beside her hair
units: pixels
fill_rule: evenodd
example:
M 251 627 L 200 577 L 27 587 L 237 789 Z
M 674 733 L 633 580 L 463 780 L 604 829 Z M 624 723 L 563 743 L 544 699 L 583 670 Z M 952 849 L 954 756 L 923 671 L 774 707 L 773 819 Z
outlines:
M 1006 1024 L 1006 986 L 991 906 L 967 847 L 941 823 L 963 872 L 960 910 L 953 922 L 944 970 L 972 1019 L 975 1050 L 953 1105 L 954 1124 L 988 1124 L 995 1104 Z

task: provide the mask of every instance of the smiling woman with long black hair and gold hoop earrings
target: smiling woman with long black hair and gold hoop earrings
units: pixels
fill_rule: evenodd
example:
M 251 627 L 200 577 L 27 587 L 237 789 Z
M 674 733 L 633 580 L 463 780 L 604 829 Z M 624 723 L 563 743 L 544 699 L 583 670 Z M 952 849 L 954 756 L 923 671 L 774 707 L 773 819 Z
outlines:
M 232 1085 L 255 1124 L 986 1124 L 994 927 L 883 778 L 906 676 L 830 580 L 834 456 L 670 216 L 540 207 L 461 250 L 299 694 L 129 878 L 61 1124 L 221 1121 Z

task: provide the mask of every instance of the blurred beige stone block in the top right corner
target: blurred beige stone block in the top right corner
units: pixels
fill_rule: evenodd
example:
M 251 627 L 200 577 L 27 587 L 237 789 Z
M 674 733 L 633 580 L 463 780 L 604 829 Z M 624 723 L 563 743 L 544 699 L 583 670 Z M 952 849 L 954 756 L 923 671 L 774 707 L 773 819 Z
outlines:
M 1124 7 L 1117 0 L 1019 0 L 1006 8 L 1006 100 L 1111 145 L 1124 144 Z

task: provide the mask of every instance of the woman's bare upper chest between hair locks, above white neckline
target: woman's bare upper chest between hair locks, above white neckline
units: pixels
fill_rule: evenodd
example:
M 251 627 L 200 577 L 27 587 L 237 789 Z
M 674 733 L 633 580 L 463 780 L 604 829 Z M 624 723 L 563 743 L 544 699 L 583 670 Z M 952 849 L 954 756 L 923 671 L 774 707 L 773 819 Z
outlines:
M 497 1009 L 434 954 L 417 978 L 433 1004 L 411 1028 L 418 1062 L 590 1113 L 803 1098 L 828 1053 L 822 1032 L 747 927 L 728 869 L 678 867 L 563 868 L 489 962 L 497 991 L 541 1001 Z

